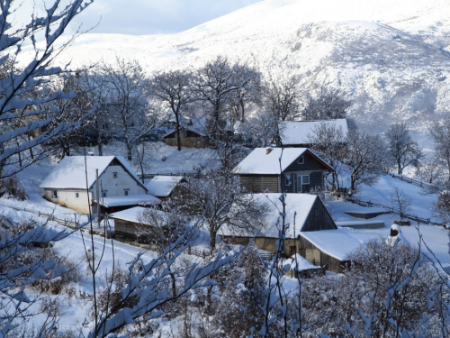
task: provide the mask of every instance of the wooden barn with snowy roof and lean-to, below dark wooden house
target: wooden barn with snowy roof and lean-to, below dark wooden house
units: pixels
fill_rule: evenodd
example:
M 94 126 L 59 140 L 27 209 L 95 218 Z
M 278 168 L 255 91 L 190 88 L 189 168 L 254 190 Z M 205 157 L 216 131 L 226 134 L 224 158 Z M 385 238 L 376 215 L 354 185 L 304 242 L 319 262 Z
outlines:
M 236 231 L 224 226 L 222 237 L 233 244 L 246 245 L 254 238 L 261 250 L 276 251 L 278 229 L 282 224 L 283 210 L 280 194 L 257 194 L 260 203 L 266 201 L 265 225 L 257 232 Z M 289 224 L 284 240 L 286 256 L 300 253 L 312 264 L 340 272 L 349 263 L 347 254 L 360 242 L 338 229 L 319 196 L 309 194 L 286 194 L 285 224 Z

